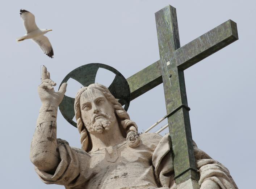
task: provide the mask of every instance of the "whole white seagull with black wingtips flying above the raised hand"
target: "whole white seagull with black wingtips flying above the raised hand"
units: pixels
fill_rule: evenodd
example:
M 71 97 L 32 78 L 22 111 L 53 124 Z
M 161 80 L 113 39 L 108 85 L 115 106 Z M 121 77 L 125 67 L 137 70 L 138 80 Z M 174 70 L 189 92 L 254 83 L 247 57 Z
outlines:
M 39 45 L 41 50 L 50 58 L 53 58 L 53 47 L 49 39 L 44 36 L 49 31 L 47 29 L 39 29 L 35 23 L 35 16 L 28 10 L 20 9 L 20 17 L 24 21 L 24 27 L 27 33 L 21 38 L 17 39 L 17 42 L 23 41 L 25 39 L 32 39 L 35 43 Z

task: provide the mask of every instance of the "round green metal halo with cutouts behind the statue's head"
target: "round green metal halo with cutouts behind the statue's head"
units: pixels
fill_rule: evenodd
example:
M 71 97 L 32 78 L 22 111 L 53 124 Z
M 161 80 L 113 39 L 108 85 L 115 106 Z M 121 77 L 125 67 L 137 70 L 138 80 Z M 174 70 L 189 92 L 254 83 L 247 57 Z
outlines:
M 75 79 L 77 82 L 81 83 L 83 86 L 88 86 L 95 83 L 96 74 L 99 68 L 104 68 L 106 70 L 112 71 L 116 74 L 113 82 L 108 87 L 109 91 L 113 94 L 115 98 L 118 99 L 119 103 L 125 105 L 124 109 L 127 111 L 130 104 L 130 87 L 125 77 L 116 69 L 111 66 L 101 64 L 101 63 L 90 63 L 76 68 L 71 71 L 60 83 L 65 83 L 68 79 Z M 74 111 L 75 98 L 68 97 L 64 95 L 62 102 L 59 105 L 60 112 L 63 117 L 74 127 L 76 123 L 72 120 L 75 116 Z

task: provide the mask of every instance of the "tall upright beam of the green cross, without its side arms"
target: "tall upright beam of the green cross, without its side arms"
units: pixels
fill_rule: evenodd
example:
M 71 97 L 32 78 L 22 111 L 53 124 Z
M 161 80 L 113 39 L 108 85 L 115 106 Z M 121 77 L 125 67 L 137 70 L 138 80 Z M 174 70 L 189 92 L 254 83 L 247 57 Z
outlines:
M 169 134 L 172 141 L 176 184 L 190 180 L 189 188 L 198 188 L 198 173 L 194 158 L 189 107 L 184 72 L 172 62 L 172 53 L 180 48 L 176 9 L 166 6 L 155 13 L 160 69 L 162 72 Z

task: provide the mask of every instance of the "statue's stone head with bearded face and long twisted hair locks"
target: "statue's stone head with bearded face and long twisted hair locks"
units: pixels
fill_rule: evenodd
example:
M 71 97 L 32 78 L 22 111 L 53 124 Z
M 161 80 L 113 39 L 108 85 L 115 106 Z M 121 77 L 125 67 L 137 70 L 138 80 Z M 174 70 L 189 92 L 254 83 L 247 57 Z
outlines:
M 116 122 L 130 147 L 139 144 L 136 123 L 130 120 L 122 105 L 104 85 L 94 83 L 81 88 L 76 94 L 74 108 L 83 150 L 92 149 L 90 134 L 104 134 L 104 129 L 108 131 Z

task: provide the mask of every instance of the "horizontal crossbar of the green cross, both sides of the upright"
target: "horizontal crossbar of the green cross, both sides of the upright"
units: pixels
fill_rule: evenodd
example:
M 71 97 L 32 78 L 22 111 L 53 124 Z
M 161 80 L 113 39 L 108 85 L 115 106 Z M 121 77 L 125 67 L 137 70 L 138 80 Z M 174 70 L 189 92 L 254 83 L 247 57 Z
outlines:
M 214 52 L 238 40 L 236 23 L 228 20 L 197 39 L 171 52 L 171 63 L 185 70 Z M 144 94 L 163 82 L 160 60 L 127 78 L 131 90 L 131 100 Z

